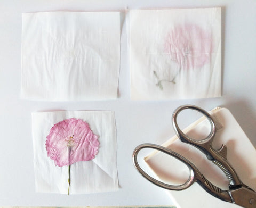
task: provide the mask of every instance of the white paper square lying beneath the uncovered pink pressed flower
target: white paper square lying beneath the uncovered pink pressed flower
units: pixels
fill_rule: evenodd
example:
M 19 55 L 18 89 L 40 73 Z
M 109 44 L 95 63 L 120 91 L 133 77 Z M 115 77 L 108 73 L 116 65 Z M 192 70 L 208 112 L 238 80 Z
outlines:
M 36 192 L 68 193 L 68 165 L 59 167 L 47 156 L 46 136 L 55 123 L 76 118 L 89 123 L 98 135 L 98 154 L 93 160 L 70 166 L 69 194 L 86 194 L 118 190 L 116 167 L 116 124 L 114 111 L 55 111 L 32 113 Z

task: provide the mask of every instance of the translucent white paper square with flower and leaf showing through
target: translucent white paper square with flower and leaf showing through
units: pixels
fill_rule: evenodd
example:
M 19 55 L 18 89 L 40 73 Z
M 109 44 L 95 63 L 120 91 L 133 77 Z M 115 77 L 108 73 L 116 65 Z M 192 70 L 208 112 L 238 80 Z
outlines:
M 221 9 L 130 11 L 131 98 L 221 96 Z

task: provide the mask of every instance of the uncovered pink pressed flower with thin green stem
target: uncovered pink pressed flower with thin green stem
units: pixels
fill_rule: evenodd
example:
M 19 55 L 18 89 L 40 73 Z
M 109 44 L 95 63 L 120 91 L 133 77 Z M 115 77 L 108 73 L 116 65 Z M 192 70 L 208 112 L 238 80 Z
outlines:
M 71 164 L 94 159 L 98 148 L 98 136 L 93 134 L 89 124 L 81 119 L 66 119 L 51 128 L 46 137 L 47 156 L 59 167 L 68 165 L 68 195 Z

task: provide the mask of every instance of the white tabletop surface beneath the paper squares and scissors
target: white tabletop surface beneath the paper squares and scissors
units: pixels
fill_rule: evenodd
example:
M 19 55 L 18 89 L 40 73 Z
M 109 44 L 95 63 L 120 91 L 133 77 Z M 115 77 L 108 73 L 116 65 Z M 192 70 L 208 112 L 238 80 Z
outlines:
M 222 96 L 219 98 L 131 101 L 126 22 L 121 35 L 119 98 L 97 102 L 34 102 L 20 99 L 21 13 L 121 11 L 140 8 L 222 7 Z M 227 107 L 256 146 L 255 0 L 1 0 L 0 1 L 0 206 L 172 205 L 165 190 L 143 179 L 132 164 L 141 143 L 162 144 L 174 135 L 173 110 L 195 104 Z M 31 112 L 111 110 L 116 114 L 117 192 L 60 195 L 35 192 Z M 191 120 L 192 121 L 192 120 Z M 189 123 L 190 121 L 188 121 Z M 245 150 L 246 151 L 246 150 Z

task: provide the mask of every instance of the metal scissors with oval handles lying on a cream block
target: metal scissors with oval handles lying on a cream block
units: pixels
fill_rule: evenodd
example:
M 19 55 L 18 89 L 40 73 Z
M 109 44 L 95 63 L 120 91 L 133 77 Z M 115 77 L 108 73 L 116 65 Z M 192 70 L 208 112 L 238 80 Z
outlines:
M 177 116 L 178 114 L 185 109 L 191 109 L 198 111 L 202 113 L 207 120 L 210 122 L 211 131 L 210 134 L 201 139 L 196 140 L 193 138 L 188 137 L 186 134 L 184 134 L 178 124 L 177 124 Z M 212 119 L 211 115 L 201 109 L 201 107 L 195 106 L 195 105 L 182 105 L 178 107 L 172 115 L 172 124 L 175 131 L 175 134 L 177 134 L 178 138 L 183 143 L 188 143 L 190 145 L 193 145 L 194 147 L 198 148 L 200 151 L 202 151 L 208 160 L 212 161 L 215 165 L 217 165 L 226 175 L 228 181 L 229 181 L 229 189 L 228 190 L 222 190 L 221 188 L 213 185 L 209 180 L 207 180 L 203 174 L 198 170 L 198 168 L 191 163 L 189 160 L 187 160 L 185 157 L 181 156 L 180 154 L 172 151 L 171 149 L 165 148 L 160 145 L 156 144 L 141 144 L 138 147 L 134 149 L 133 152 L 133 164 L 135 165 L 135 168 L 142 174 L 143 177 L 148 179 L 150 182 L 153 182 L 153 184 L 169 189 L 169 190 L 184 190 L 188 187 L 190 187 L 194 182 L 197 182 L 202 188 L 206 190 L 206 192 L 210 193 L 214 197 L 217 197 L 223 201 L 237 204 L 242 207 L 256 207 L 256 192 L 252 190 L 250 187 L 243 184 L 243 182 L 239 179 L 237 176 L 237 173 L 235 172 L 234 168 L 231 167 L 227 160 L 227 147 L 225 145 L 222 145 L 220 149 L 215 150 L 212 147 L 212 142 L 216 133 L 216 125 L 214 123 L 214 120 Z M 178 159 L 179 161 L 183 162 L 187 165 L 189 169 L 189 178 L 188 180 L 181 185 L 170 185 L 166 184 L 162 181 L 156 180 L 155 178 L 149 176 L 145 171 L 142 170 L 140 167 L 137 155 L 139 151 L 143 148 L 153 148 L 157 151 L 161 151 L 163 153 L 166 153 L 168 155 L 171 155 Z

